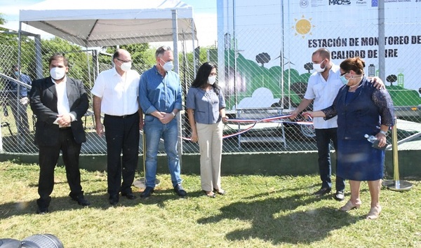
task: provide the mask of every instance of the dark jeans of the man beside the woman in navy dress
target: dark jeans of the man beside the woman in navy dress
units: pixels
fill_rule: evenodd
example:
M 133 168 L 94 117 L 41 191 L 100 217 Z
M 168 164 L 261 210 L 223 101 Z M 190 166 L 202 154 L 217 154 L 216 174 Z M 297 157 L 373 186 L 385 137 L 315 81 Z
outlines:
M 330 162 L 330 140 L 333 142 L 333 147 L 338 153 L 338 137 L 336 130 L 338 128 L 316 129 L 317 151 L 319 154 L 319 173 L 321 179 L 321 188 L 332 188 L 332 181 L 330 175 L 332 173 L 332 165 Z M 338 161 L 335 163 L 338 165 Z M 335 182 L 336 191 L 343 191 L 345 189 L 345 179 L 336 176 Z

